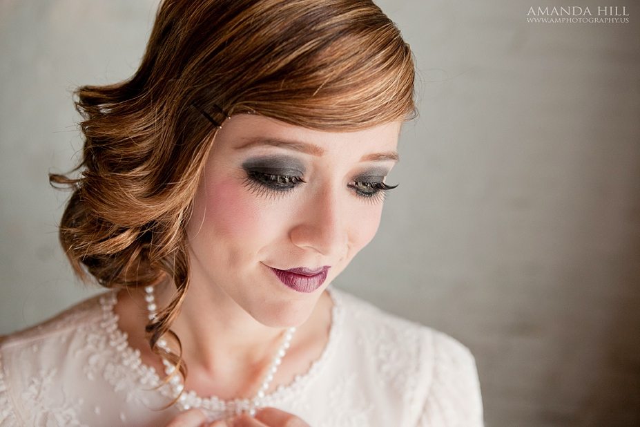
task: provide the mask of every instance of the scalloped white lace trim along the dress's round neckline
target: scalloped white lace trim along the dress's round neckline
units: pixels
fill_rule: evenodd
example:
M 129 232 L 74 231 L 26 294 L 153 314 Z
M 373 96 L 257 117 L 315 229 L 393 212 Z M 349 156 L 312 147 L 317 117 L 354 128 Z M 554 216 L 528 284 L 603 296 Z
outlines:
M 291 383 L 284 385 L 281 384 L 275 390 L 265 395 L 262 400 L 266 406 L 272 406 L 282 401 L 291 399 L 300 392 L 307 388 L 307 386 L 313 382 L 318 374 L 322 371 L 322 368 L 327 365 L 335 352 L 336 342 L 338 341 L 338 335 L 340 334 L 342 323 L 342 300 L 340 292 L 333 288 L 333 285 L 327 287 L 327 292 L 333 301 L 333 307 L 331 307 L 331 327 L 329 330 L 329 339 L 327 344 L 324 345 L 324 350 L 320 357 L 311 363 L 311 367 L 304 374 L 297 374 L 293 377 Z M 122 364 L 129 368 L 132 373 L 137 377 L 140 383 L 142 383 L 146 389 L 157 388 L 164 397 L 173 399 L 171 387 L 164 383 L 161 377 L 157 374 L 157 371 L 153 366 L 148 366 L 142 362 L 140 351 L 132 348 L 128 344 L 127 333 L 118 328 L 119 316 L 113 311 L 113 307 L 117 303 L 117 291 L 107 292 L 99 298 L 99 304 L 102 309 L 102 322 L 101 328 L 109 336 L 109 344 L 117 350 L 122 356 Z M 198 403 L 202 406 L 202 409 L 213 410 L 220 406 L 220 403 L 224 402 L 226 406 L 242 406 L 248 399 L 229 399 L 223 400 L 216 396 L 210 396 L 200 399 L 195 395 L 193 390 L 185 390 L 185 395 L 191 396 L 192 399 L 199 399 Z

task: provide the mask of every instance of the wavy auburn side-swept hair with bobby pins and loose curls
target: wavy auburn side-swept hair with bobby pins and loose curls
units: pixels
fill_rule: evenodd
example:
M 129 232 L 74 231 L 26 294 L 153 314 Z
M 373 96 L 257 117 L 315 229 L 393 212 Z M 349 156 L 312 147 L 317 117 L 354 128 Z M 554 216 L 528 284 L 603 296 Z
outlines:
M 156 342 L 188 289 L 185 225 L 218 129 L 206 116 L 255 113 L 332 131 L 408 120 L 414 61 L 369 0 L 165 0 L 133 77 L 75 95 L 81 173 L 50 175 L 72 189 L 62 247 L 81 278 L 104 287 L 173 282 L 146 332 L 186 376 L 181 350 Z

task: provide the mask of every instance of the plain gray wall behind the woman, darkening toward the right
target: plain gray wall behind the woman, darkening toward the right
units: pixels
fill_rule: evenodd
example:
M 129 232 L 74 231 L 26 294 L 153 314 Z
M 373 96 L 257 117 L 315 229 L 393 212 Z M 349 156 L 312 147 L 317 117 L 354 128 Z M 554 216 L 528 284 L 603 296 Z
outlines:
M 384 0 L 420 70 L 379 234 L 336 285 L 476 355 L 487 426 L 640 425 L 640 8 Z M 70 92 L 138 64 L 157 0 L 0 0 L 0 333 L 96 292 L 57 243 Z M 567 6 L 567 5 L 563 5 Z

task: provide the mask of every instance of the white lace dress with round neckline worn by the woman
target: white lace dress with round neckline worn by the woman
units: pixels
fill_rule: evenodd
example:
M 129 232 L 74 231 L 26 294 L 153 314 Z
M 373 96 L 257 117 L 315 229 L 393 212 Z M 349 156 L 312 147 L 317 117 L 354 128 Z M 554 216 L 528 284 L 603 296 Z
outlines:
M 313 427 L 483 425 L 478 374 L 458 341 L 329 287 L 329 342 L 266 406 Z M 168 386 L 117 328 L 106 292 L 0 343 L 0 426 L 164 426 Z

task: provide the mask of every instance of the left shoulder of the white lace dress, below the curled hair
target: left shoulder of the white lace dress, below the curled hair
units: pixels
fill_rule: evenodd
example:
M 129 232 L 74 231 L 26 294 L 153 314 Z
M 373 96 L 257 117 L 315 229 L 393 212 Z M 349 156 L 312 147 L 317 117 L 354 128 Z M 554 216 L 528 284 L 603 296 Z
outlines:
M 0 344 L 0 426 L 147 425 L 167 416 L 155 411 L 166 404 L 155 370 L 118 329 L 116 302 L 106 292 Z

